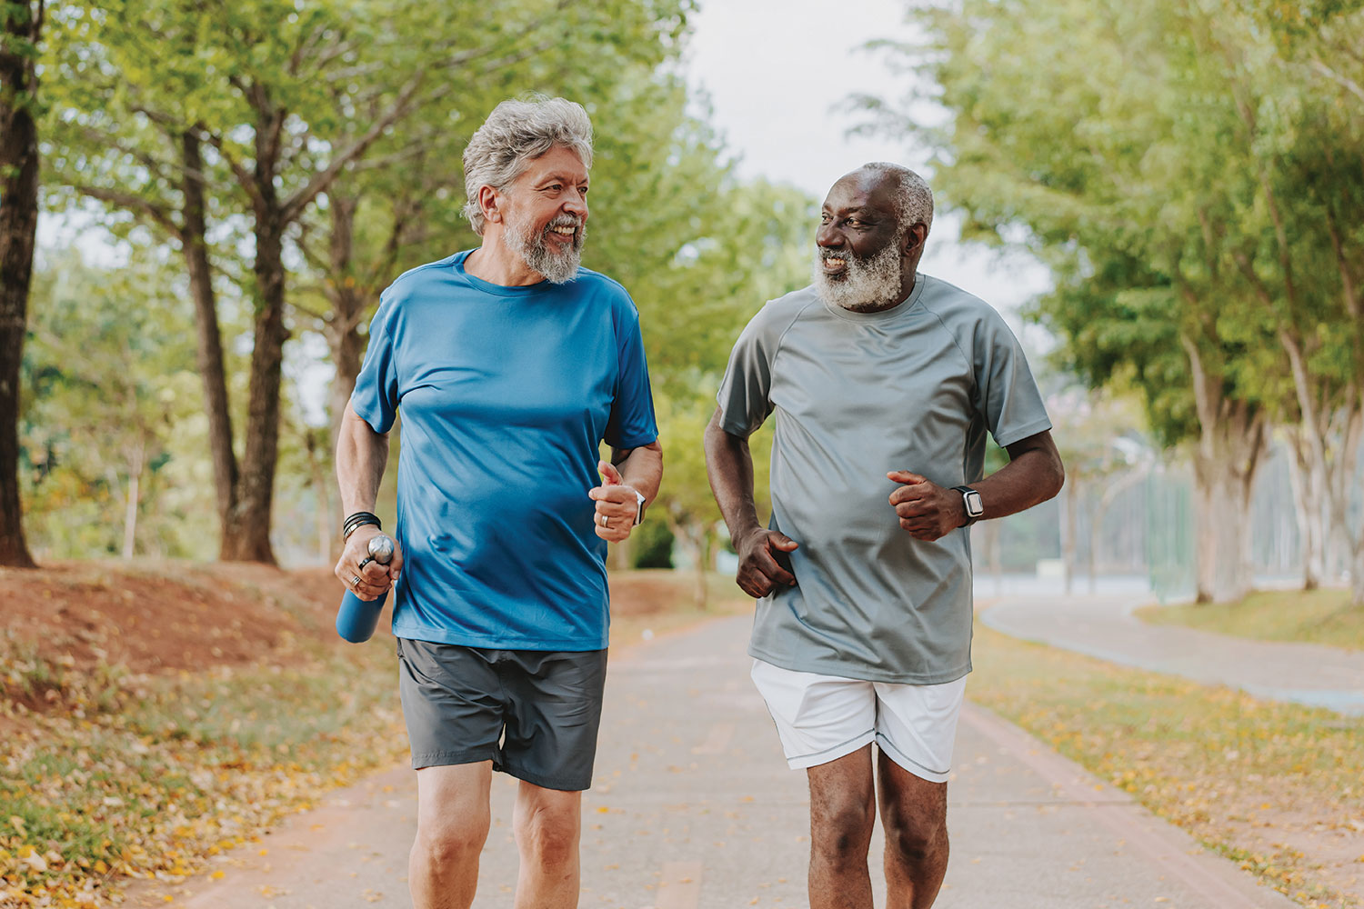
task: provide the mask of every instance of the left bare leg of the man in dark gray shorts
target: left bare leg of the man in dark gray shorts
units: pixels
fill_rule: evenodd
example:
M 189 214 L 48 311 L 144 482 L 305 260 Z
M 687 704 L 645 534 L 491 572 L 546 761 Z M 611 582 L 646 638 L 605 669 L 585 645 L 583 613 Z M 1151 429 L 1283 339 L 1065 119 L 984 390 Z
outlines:
M 491 784 L 491 760 L 417 770 L 417 838 L 408 860 L 413 909 L 473 904 Z

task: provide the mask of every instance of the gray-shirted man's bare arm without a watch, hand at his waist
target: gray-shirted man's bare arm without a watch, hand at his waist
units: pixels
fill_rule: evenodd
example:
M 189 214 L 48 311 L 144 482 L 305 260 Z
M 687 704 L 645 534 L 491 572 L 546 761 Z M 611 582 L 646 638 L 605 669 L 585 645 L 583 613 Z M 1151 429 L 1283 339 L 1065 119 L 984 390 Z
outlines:
M 739 553 L 734 582 L 750 597 L 765 597 L 777 586 L 795 585 L 786 553 L 792 552 L 797 542 L 758 522 L 749 440 L 724 431 L 719 407 L 705 428 L 705 472 Z

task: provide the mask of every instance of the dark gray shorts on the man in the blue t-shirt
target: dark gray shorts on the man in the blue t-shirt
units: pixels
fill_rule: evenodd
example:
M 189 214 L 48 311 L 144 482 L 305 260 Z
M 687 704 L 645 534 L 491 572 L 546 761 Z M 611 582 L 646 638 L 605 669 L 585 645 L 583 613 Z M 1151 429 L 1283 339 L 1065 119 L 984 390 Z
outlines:
M 606 650 L 486 650 L 398 638 L 412 767 L 491 760 L 546 789 L 592 785 Z

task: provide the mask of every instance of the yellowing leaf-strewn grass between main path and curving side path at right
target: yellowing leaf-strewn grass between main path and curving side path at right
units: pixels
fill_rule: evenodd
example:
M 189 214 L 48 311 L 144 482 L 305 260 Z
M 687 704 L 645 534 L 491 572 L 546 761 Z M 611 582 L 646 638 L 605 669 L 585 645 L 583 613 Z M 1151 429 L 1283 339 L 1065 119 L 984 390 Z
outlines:
M 1255 833 L 1309 811 L 1326 827 L 1364 816 L 1364 717 L 1114 666 L 977 627 L 973 700 L 1188 829 L 1315 909 L 1361 904 L 1281 838 Z M 1364 856 L 1361 856 L 1364 857 Z

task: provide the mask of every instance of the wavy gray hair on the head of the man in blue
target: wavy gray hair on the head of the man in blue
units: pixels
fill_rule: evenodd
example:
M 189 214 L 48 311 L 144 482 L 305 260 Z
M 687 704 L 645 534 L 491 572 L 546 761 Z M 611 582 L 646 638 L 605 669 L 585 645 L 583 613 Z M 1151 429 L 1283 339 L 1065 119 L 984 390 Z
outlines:
M 527 165 L 554 146 L 563 146 L 592 166 L 592 120 L 581 104 L 533 94 L 503 101 L 464 149 L 464 217 L 483 234 L 479 189 L 498 192 L 525 172 Z

